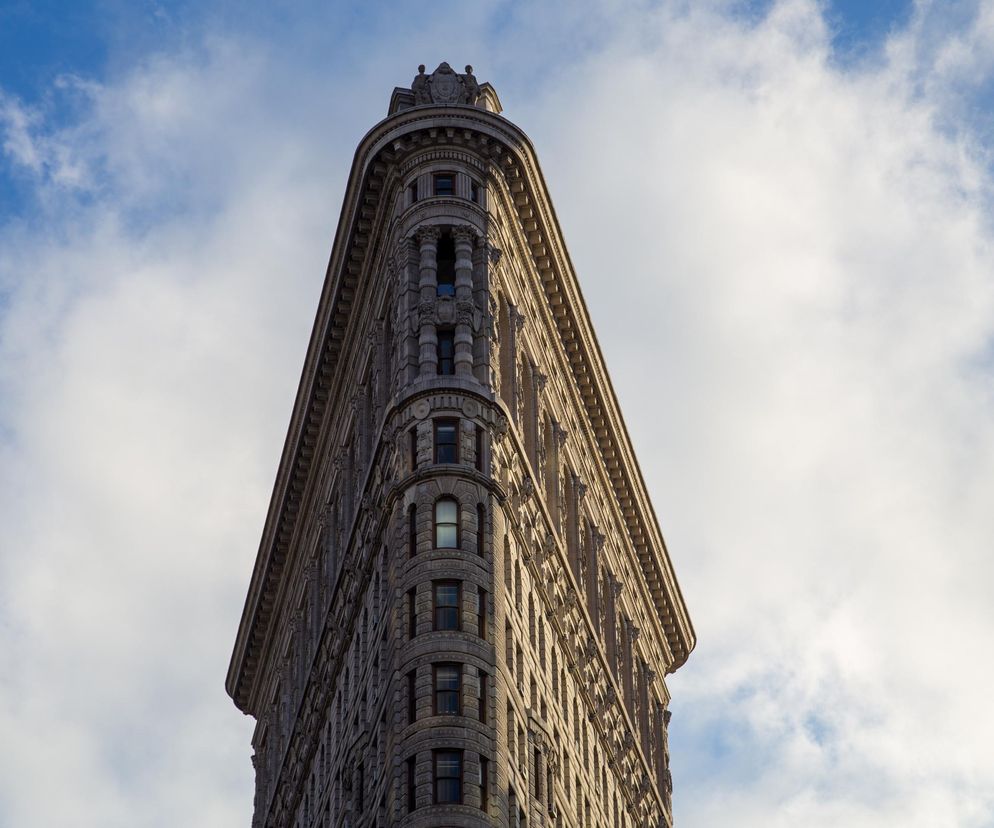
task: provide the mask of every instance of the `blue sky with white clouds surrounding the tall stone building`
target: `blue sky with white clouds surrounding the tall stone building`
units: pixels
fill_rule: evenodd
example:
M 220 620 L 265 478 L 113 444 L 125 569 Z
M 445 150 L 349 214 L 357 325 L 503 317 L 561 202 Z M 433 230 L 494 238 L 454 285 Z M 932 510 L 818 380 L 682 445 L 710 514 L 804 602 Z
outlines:
M 682 828 L 994 826 L 994 2 L 0 3 L 0 826 L 225 828 L 355 145 L 531 136 L 698 635 Z

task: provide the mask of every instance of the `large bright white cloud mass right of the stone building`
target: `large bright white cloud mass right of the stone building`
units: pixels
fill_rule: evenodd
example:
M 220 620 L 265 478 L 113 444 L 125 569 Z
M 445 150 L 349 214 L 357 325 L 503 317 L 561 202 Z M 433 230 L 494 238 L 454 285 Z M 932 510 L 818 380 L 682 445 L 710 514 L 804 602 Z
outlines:
M 700 636 L 681 824 L 990 824 L 990 170 L 813 4 L 638 24 L 544 157 Z

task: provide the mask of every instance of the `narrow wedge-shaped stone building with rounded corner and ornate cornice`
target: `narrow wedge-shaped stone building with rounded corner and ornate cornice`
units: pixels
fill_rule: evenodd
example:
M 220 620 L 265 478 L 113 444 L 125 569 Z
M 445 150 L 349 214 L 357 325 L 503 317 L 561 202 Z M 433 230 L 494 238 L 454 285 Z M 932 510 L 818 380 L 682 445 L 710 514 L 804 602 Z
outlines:
M 666 826 L 694 633 L 525 134 L 359 144 L 227 676 L 258 828 Z

